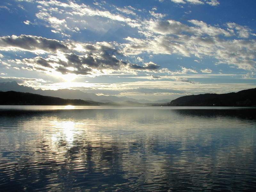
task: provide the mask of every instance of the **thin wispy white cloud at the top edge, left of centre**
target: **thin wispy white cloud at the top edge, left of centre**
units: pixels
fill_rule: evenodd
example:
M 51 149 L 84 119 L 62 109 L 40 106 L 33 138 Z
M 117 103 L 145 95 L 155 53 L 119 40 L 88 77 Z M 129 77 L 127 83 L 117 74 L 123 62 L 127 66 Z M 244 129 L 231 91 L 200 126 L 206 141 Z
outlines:
M 39 12 L 36 17 L 45 22 L 45 26 L 59 32 L 77 32 L 75 28 L 89 29 L 96 33 L 106 33 L 116 28 L 117 25 L 126 24 L 132 28 L 138 27 L 139 23 L 121 13 L 136 16 L 131 6 L 117 8 L 121 13 L 111 13 L 106 9 L 95 9 L 85 4 L 77 4 L 74 1 L 62 3 L 56 0 L 37 1 Z M 132 11 L 133 10 L 133 11 Z M 97 25 L 95 25 L 97 23 Z

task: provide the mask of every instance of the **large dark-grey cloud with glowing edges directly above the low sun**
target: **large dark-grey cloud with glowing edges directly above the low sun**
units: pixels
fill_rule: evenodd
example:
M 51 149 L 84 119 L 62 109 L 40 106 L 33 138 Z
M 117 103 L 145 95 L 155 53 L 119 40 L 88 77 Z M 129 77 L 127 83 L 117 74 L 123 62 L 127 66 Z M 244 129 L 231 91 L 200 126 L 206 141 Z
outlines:
M 64 45 L 64 43 L 63 43 Z M 67 45 L 65 45 L 67 46 Z M 69 42 L 69 46 L 76 50 L 77 44 Z M 102 74 L 134 73 L 135 71 L 158 71 L 159 65 L 148 62 L 142 66 L 130 64 L 117 58 L 119 55 L 112 44 L 108 42 L 97 42 L 96 44 L 80 44 L 81 53 L 59 52 L 55 55 L 48 55 L 48 58 L 37 56 L 13 61 L 17 64 L 25 64 L 28 67 L 22 69 L 43 71 L 48 74 L 59 72 L 63 75 L 75 74 L 82 76 L 98 76 Z

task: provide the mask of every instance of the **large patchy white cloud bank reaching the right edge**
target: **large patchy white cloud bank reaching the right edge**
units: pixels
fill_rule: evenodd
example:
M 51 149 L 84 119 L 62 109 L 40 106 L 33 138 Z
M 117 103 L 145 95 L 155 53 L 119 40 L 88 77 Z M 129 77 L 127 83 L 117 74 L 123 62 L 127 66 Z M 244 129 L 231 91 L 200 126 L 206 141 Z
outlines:
M 198 20 L 188 22 L 192 26 L 175 20 L 145 21 L 141 33 L 146 38 L 128 36 L 125 38 L 128 43 L 122 44 L 122 51 L 128 55 L 145 52 L 180 54 L 185 57 L 194 55 L 200 60 L 213 57 L 218 60 L 216 64 L 224 63 L 231 67 L 255 70 L 255 40 L 245 40 L 251 29 L 236 23 L 228 23 L 228 28 L 225 29 Z

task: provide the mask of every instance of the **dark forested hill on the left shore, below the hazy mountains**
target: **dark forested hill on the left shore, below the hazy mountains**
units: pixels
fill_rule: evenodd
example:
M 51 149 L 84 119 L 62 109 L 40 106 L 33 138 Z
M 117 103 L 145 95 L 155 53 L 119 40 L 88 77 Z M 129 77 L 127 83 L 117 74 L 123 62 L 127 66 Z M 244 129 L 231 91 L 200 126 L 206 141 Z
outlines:
M 99 105 L 99 102 L 81 99 L 62 99 L 23 92 L 0 92 L 0 105 Z

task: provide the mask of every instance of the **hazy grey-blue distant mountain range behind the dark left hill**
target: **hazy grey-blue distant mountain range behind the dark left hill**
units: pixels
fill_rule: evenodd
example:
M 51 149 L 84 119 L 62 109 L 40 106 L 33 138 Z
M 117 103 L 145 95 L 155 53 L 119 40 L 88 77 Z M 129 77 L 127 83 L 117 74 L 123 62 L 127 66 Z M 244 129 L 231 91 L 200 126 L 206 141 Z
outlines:
M 12 82 L 3 82 L 0 83 L 0 91 L 7 92 L 7 91 L 16 91 L 16 92 L 28 92 L 33 94 L 39 94 L 44 96 L 51 96 L 51 97 L 58 97 L 63 99 L 81 99 L 81 100 L 91 100 L 95 102 L 101 103 L 111 103 L 111 102 L 139 102 L 139 103 L 167 103 L 171 100 L 157 100 L 157 101 L 150 101 L 150 100 L 136 100 L 133 98 L 128 97 L 116 97 L 116 96 L 105 96 L 105 95 L 96 95 L 94 93 L 85 93 L 80 90 L 72 90 L 72 89 L 59 89 L 59 90 L 42 90 L 42 89 L 34 89 L 32 87 L 27 87 L 23 85 L 19 85 L 16 81 Z

